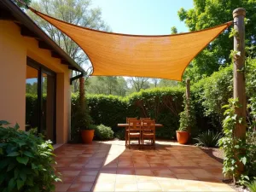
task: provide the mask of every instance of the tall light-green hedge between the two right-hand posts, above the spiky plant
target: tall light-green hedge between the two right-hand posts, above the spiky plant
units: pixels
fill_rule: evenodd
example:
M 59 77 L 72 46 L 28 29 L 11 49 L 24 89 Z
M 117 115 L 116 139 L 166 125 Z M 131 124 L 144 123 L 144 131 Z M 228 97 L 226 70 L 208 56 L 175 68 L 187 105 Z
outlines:
M 201 79 L 198 83 L 192 85 L 192 99 L 196 103 L 195 115 L 197 120 L 200 121 L 198 125 L 201 128 L 206 127 L 222 131 L 224 109 L 221 107 L 228 102 L 232 92 L 232 66 L 220 68 L 218 72 L 213 73 L 210 77 Z M 204 122 L 207 122 L 207 124 Z

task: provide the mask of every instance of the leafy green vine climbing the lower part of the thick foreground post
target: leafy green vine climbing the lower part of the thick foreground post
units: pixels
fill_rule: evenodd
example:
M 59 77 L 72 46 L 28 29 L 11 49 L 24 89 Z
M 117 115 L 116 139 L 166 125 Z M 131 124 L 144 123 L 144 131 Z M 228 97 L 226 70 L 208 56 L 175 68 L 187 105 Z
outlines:
M 240 108 L 238 100 L 230 99 L 226 108 L 223 121 L 224 137 L 219 140 L 219 146 L 224 149 L 224 174 L 232 176 L 236 182 L 244 183 L 244 180 L 249 180 L 255 171 L 255 152 L 256 146 L 248 142 L 248 135 L 245 138 L 235 137 L 234 131 L 236 124 L 245 124 L 245 119 L 238 117 L 235 113 L 236 108 Z M 239 174 L 239 166 L 237 161 L 245 167 L 243 175 Z

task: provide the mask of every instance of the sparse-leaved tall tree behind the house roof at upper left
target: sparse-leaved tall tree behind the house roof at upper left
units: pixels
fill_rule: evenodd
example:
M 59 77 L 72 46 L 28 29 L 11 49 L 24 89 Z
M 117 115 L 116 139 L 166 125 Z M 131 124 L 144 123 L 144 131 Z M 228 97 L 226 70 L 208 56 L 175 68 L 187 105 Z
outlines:
M 78 26 L 86 26 L 96 30 L 109 31 L 109 26 L 102 20 L 102 12 L 99 8 L 91 8 L 90 0 L 38 0 L 32 2 L 31 6 L 40 12 L 53 16 L 57 19 L 64 20 Z M 79 66 L 87 68 L 87 74 L 90 74 L 91 67 L 88 57 L 84 51 L 75 44 L 73 40 L 68 38 L 61 31 L 51 26 L 47 21 L 42 20 L 32 12 L 27 12 L 28 15 L 35 20 L 38 25 L 49 34 L 56 44 L 64 49 L 70 57 L 76 61 Z M 74 72 L 77 75 L 76 72 Z M 73 81 L 74 90 L 79 88 L 79 82 Z

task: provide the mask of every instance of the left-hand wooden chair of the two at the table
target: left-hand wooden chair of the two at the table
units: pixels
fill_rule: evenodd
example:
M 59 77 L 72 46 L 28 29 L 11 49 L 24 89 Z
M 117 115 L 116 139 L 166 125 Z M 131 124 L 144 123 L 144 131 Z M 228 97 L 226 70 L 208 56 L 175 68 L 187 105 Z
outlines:
M 127 128 L 127 139 L 129 148 L 131 147 L 131 138 L 138 139 L 138 145 L 141 145 L 141 121 L 140 120 L 129 120 L 129 126 Z

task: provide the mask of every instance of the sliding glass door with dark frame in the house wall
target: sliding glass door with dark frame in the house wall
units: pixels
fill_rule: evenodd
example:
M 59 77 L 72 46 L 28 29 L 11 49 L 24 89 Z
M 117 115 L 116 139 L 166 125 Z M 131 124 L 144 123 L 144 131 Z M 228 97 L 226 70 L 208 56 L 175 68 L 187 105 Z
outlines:
M 42 134 L 55 143 L 56 75 L 38 62 L 27 58 L 26 131 Z

